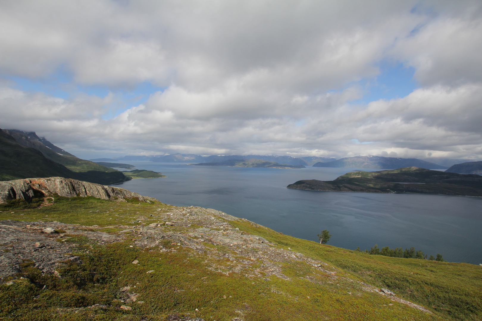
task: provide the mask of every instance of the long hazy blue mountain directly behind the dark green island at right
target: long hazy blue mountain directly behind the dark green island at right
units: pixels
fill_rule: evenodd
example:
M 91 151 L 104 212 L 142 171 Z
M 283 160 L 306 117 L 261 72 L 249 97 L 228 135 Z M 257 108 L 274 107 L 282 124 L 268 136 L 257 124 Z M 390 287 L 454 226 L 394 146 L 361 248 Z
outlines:
M 446 169 L 447 167 L 429 163 L 417 158 L 395 158 L 383 156 L 355 156 L 341 158 L 328 163 L 316 163 L 313 167 L 350 167 L 350 168 L 401 168 L 420 167 L 427 169 Z

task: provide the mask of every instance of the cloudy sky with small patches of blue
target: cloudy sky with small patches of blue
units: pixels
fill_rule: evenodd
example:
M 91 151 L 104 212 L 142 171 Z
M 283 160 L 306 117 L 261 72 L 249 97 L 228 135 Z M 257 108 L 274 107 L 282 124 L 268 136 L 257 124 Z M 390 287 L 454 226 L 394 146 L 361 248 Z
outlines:
M 482 1 L 3 0 L 0 128 L 81 158 L 482 160 Z

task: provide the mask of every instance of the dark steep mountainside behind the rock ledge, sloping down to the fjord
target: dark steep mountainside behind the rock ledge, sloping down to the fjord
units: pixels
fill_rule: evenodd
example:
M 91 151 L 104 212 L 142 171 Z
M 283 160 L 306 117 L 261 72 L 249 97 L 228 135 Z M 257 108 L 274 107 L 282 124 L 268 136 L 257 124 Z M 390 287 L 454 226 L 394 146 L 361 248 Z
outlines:
M 0 170 L 2 180 L 61 176 L 104 185 L 129 180 L 120 171 L 80 159 L 50 141 L 38 137 L 35 132 L 16 129 L 1 129 L 0 131 L 2 134 L 0 145 L 3 159 Z M 37 162 L 39 165 L 36 164 Z M 34 173 L 36 175 L 33 175 Z

